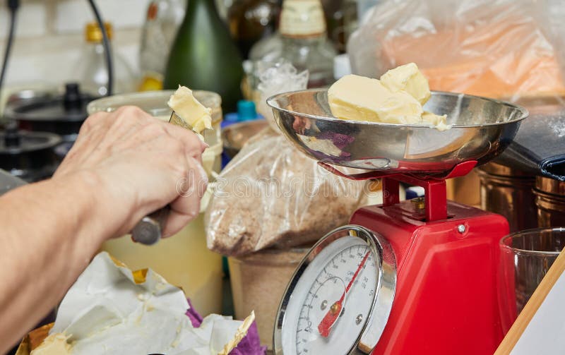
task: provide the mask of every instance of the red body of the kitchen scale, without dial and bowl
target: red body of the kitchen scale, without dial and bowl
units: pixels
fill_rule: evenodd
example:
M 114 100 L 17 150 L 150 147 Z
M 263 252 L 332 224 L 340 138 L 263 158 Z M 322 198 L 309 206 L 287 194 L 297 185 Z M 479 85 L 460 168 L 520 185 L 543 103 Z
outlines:
M 493 354 L 503 338 L 496 270 L 508 222 L 453 202 L 447 219 L 425 222 L 418 207 L 369 206 L 351 219 L 387 239 L 398 265 L 391 315 L 371 354 Z

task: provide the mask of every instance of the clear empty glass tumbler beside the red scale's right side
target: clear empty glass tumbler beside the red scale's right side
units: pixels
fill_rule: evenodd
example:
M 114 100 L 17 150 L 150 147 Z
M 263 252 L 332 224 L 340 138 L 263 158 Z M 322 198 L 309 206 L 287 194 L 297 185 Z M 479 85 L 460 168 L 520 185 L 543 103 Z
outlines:
M 565 247 L 565 227 L 518 231 L 500 241 L 499 311 L 504 334 Z

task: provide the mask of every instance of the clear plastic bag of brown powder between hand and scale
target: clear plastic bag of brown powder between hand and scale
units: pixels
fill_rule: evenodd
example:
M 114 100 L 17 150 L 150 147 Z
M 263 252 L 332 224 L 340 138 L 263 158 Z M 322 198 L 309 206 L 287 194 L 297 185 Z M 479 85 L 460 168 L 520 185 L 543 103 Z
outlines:
M 270 130 L 251 138 L 215 184 L 206 235 L 224 255 L 316 241 L 347 224 L 364 196 L 364 182 L 327 172 Z

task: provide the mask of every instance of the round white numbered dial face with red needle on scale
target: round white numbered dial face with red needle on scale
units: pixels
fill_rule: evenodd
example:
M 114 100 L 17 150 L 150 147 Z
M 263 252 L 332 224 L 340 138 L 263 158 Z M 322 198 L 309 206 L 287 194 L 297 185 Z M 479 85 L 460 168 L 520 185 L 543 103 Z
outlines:
M 378 276 L 375 255 L 362 239 L 346 236 L 326 246 L 292 291 L 284 354 L 347 354 L 367 323 Z

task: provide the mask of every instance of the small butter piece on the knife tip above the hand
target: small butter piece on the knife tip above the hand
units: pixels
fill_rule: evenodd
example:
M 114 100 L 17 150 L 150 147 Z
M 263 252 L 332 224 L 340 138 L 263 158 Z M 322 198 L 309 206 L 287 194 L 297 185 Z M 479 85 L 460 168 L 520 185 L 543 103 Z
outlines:
M 192 90 L 186 88 L 186 86 L 179 85 L 167 104 L 196 133 L 212 128 L 212 117 L 210 116 L 212 109 L 204 107 L 203 104 L 198 102 L 192 95 Z

